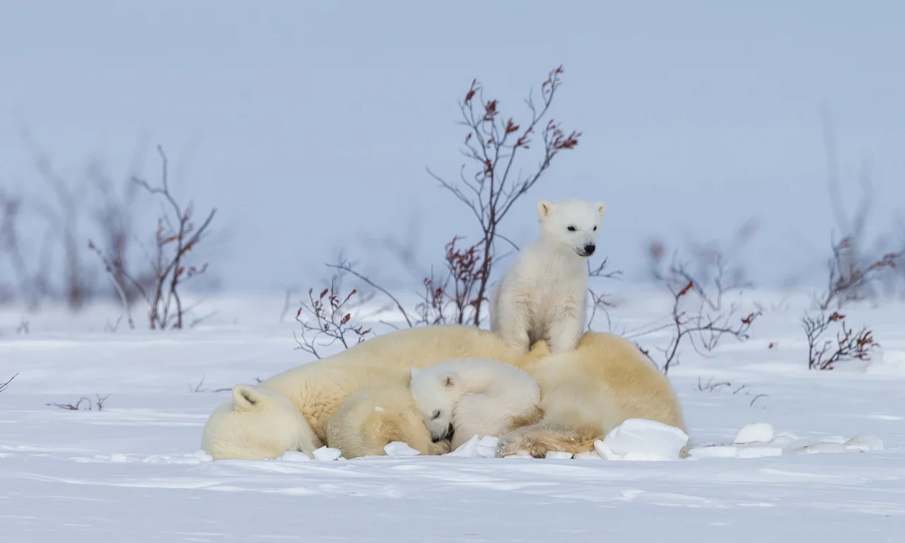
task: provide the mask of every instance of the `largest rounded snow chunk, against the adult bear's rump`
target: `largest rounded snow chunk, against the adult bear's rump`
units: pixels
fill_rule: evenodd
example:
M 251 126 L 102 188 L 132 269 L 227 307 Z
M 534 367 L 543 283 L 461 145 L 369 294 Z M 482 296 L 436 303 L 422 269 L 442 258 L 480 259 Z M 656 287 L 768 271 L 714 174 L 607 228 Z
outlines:
M 640 454 L 678 459 L 681 448 L 688 443 L 688 435 L 669 424 L 647 419 L 627 419 L 606 434 L 604 443 L 619 456 L 633 453 L 636 458 L 640 458 Z

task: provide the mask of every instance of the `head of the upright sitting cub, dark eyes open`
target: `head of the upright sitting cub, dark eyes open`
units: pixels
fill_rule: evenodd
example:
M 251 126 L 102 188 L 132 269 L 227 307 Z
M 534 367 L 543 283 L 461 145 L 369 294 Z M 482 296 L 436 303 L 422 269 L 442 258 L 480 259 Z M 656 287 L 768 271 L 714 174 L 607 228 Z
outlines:
M 538 202 L 538 217 L 544 235 L 588 258 L 597 247 L 597 231 L 603 223 L 603 202 L 564 200 L 552 204 Z

